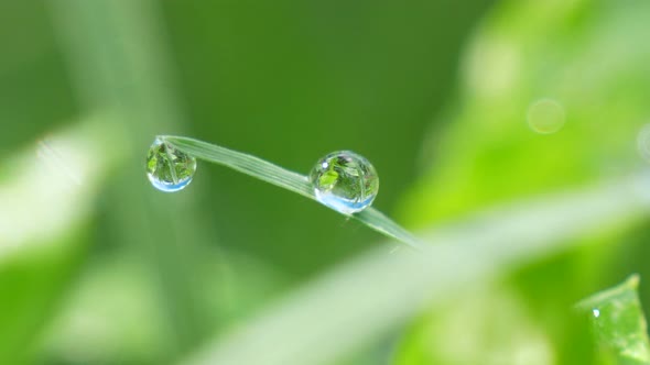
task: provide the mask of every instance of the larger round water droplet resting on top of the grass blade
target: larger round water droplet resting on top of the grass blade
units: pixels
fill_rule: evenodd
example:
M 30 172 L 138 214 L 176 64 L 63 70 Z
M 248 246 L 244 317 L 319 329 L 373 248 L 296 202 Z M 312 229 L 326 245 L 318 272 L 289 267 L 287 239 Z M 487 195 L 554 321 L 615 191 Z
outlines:
M 346 214 L 368 208 L 379 191 L 375 167 L 350 151 L 333 152 L 321 158 L 310 181 L 318 201 Z

